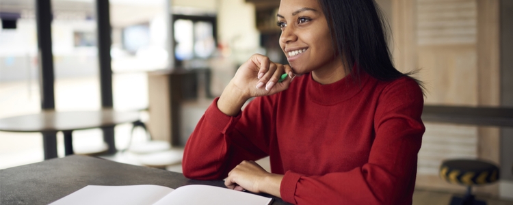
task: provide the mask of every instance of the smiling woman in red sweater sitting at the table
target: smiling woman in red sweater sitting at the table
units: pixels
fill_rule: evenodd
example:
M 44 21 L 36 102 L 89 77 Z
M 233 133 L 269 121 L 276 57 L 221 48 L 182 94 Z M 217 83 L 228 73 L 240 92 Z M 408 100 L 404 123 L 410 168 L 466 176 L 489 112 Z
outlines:
M 253 55 L 239 68 L 189 138 L 183 174 L 293 204 L 411 204 L 423 93 L 393 66 L 376 3 L 282 0 L 277 20 L 289 65 Z M 271 173 L 253 162 L 264 156 Z

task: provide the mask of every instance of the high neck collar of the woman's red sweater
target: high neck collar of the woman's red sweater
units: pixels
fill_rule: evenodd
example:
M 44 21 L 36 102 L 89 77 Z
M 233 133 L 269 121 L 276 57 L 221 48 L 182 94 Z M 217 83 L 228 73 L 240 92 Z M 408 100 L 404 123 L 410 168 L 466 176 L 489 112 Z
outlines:
M 337 82 L 322 85 L 313 80 L 311 73 L 306 75 L 306 94 L 319 105 L 335 105 L 352 98 L 363 90 L 370 77 L 365 71 L 360 71 L 358 79 L 355 77 L 356 72 L 353 72 Z

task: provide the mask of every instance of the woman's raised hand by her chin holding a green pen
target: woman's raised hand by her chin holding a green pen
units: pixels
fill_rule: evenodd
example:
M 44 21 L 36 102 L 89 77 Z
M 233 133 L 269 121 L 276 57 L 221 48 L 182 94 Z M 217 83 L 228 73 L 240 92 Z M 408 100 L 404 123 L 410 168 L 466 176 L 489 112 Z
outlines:
M 284 73 L 289 77 L 278 82 Z M 287 90 L 293 77 L 295 74 L 289 65 L 277 64 L 265 55 L 254 54 L 239 67 L 235 77 L 224 88 L 218 100 L 218 108 L 226 115 L 237 115 L 249 98 Z

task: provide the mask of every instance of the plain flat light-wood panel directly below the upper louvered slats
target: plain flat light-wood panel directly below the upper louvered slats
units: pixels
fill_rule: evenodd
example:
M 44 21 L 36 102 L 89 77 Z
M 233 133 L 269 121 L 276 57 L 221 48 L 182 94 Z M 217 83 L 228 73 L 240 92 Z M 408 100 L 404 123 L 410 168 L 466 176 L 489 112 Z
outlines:
M 477 105 L 475 45 L 419 46 L 422 80 L 428 85 L 426 104 Z

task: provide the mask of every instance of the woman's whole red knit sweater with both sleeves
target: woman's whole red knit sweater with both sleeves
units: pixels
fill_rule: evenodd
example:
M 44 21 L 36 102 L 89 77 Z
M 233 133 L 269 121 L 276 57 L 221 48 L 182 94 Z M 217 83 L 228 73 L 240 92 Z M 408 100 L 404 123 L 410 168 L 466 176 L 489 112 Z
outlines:
M 183 174 L 219 180 L 268 155 L 272 172 L 285 174 L 286 202 L 412 204 L 425 130 L 421 89 L 408 77 L 360 76 L 321 85 L 304 74 L 235 117 L 215 99 L 187 141 Z

